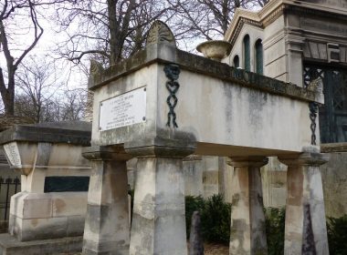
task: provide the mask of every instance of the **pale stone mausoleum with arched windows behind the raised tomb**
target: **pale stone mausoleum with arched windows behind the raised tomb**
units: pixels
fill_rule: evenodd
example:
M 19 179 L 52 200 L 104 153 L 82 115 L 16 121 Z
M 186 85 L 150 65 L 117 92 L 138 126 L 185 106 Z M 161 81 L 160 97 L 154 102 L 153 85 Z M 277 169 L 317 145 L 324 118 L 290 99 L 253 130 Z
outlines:
M 271 0 L 258 12 L 237 9 L 226 31 L 232 44 L 230 66 L 270 76 L 299 87 L 320 86 L 321 150 L 331 161 L 321 167 L 328 215 L 347 212 L 347 2 Z M 293 125 L 299 125 L 293 123 Z M 271 128 L 270 126 L 268 128 Z M 283 206 L 285 166 L 270 158 L 263 168 L 265 204 Z

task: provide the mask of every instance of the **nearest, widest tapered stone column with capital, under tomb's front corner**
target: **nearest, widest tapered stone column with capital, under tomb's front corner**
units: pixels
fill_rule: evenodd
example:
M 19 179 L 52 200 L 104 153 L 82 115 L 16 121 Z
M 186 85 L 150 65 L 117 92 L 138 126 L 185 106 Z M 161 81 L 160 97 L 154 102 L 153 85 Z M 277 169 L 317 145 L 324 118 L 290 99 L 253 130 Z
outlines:
M 125 149 L 138 158 L 130 254 L 187 254 L 183 158 L 195 143 L 153 138 Z

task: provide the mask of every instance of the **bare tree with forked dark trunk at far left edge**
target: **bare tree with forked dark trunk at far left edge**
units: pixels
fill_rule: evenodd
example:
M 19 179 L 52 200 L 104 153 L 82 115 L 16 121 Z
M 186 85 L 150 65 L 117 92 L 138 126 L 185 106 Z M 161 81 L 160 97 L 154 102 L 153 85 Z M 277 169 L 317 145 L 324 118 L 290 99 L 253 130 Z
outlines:
M 14 115 L 16 70 L 44 32 L 37 17 L 37 5 L 42 3 L 37 2 L 4 0 L 0 3 L 0 46 L 6 62 L 5 71 L 0 67 L 0 93 L 8 115 Z M 27 35 L 25 45 L 16 41 L 17 34 Z

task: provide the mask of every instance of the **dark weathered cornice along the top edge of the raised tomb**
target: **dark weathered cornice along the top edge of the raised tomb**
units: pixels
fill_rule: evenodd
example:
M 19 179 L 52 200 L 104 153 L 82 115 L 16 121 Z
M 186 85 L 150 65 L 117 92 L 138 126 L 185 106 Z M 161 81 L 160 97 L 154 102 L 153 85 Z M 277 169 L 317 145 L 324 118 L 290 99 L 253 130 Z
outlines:
M 284 97 L 292 97 L 302 101 L 316 101 L 322 103 L 321 94 L 298 87 L 294 84 L 285 83 L 268 76 L 261 76 L 243 69 L 237 69 L 224 63 L 197 56 L 179 50 L 173 46 L 164 44 L 147 46 L 129 59 L 120 64 L 110 66 L 102 73 L 92 76 L 93 83 L 89 84 L 89 89 L 95 90 L 112 80 L 127 76 L 136 70 L 154 63 L 166 64 L 174 63 L 181 69 L 198 73 L 204 76 L 212 76 L 217 79 L 226 80 L 243 87 L 253 87 L 254 89 L 267 91 Z

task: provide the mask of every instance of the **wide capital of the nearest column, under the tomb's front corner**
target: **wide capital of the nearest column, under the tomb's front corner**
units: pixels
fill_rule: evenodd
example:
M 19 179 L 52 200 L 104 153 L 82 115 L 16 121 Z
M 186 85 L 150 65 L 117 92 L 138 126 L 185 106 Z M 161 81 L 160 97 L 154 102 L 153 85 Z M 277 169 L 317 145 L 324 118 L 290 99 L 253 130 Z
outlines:
M 134 157 L 184 158 L 196 150 L 196 143 L 189 140 L 144 138 L 124 144 L 125 151 Z

